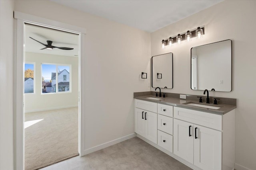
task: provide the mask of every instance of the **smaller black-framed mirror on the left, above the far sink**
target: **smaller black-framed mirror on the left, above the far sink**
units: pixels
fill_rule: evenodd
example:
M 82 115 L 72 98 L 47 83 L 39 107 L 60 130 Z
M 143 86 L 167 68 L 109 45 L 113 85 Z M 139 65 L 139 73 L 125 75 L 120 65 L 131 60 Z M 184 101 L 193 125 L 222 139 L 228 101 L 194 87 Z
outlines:
M 172 88 L 172 53 L 153 56 L 151 59 L 152 87 Z

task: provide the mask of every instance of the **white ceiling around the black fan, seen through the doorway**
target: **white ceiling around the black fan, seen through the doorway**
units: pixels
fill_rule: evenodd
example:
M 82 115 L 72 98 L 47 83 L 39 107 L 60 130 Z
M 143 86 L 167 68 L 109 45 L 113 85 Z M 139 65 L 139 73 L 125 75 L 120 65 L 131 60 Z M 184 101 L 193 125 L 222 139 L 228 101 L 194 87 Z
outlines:
M 44 53 L 52 55 L 64 55 L 76 57 L 79 54 L 79 37 L 72 33 L 66 33 L 62 31 L 56 31 L 53 29 L 47 29 L 43 27 L 37 27 L 33 25 L 27 25 L 25 27 L 25 51 L 33 53 Z M 52 45 L 55 47 L 70 47 L 73 50 L 62 50 L 54 48 L 52 50 L 44 49 L 45 46 L 29 38 L 32 37 L 41 43 L 47 44 L 47 40 L 52 41 Z

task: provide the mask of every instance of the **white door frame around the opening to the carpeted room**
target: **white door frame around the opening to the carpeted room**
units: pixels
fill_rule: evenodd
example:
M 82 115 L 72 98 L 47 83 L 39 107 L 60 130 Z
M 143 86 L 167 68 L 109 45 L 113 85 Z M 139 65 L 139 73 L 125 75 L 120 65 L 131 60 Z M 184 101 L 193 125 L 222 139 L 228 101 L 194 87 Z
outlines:
M 67 31 L 70 33 L 76 33 L 79 35 L 79 68 L 78 68 L 78 79 L 79 79 L 79 92 L 78 92 L 78 152 L 80 156 L 84 156 L 85 150 L 85 137 L 84 137 L 84 118 L 85 118 L 85 35 L 86 29 L 61 23 L 54 20 L 48 20 L 29 14 L 14 11 L 14 35 L 16 33 L 16 39 L 14 38 L 14 46 L 16 46 L 16 57 L 14 57 L 14 169 L 24 170 L 24 34 L 25 34 L 25 23 L 33 25 L 48 27 L 57 29 L 60 31 Z M 15 49 L 15 48 L 14 48 Z

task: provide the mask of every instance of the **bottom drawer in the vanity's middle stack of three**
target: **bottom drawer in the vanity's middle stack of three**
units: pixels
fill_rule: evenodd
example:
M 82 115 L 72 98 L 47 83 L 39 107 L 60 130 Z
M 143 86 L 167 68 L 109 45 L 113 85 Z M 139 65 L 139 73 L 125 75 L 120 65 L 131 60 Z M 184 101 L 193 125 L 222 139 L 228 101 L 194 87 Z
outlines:
M 168 150 L 169 152 L 172 152 L 172 135 L 169 135 L 167 133 L 164 133 L 162 131 L 157 131 L 157 144 L 158 146 Z

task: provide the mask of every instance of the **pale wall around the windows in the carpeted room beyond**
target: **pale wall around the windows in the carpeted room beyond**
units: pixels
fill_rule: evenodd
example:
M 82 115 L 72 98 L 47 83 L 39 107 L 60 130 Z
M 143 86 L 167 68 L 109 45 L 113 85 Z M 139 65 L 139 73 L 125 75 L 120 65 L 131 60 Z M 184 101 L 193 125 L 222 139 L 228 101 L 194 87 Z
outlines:
M 78 106 L 78 57 L 26 52 L 25 62 L 35 63 L 34 94 L 25 94 L 25 113 L 42 111 L 44 109 L 58 109 Z M 71 92 L 41 94 L 42 63 L 71 65 Z

